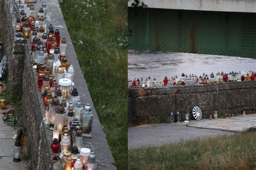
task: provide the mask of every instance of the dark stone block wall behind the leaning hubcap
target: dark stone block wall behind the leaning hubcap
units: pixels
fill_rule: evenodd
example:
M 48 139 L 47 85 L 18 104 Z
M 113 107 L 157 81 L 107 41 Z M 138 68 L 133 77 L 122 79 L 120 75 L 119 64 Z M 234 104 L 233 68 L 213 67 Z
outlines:
M 129 125 L 161 123 L 168 113 L 191 113 L 194 106 L 201 108 L 203 118 L 215 110 L 238 113 L 244 108 L 256 109 L 256 81 L 194 86 L 129 88 Z

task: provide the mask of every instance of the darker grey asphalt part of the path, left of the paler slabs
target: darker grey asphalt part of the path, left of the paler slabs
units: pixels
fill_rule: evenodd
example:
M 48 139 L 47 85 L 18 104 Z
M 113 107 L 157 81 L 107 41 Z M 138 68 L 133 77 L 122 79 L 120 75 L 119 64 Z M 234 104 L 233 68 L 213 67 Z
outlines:
M 188 127 L 178 123 L 140 125 L 128 128 L 128 149 L 160 146 L 180 140 L 225 134 L 233 134 L 233 132 Z

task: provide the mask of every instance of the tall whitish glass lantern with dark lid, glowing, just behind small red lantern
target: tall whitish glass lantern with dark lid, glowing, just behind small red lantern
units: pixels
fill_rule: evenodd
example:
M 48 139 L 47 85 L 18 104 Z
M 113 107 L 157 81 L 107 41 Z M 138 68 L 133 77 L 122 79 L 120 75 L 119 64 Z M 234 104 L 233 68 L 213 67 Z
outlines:
M 61 132 L 63 126 L 65 125 L 65 120 L 66 120 L 65 108 L 63 107 L 62 104 L 60 104 L 57 108 L 56 115 L 55 115 L 54 129 Z

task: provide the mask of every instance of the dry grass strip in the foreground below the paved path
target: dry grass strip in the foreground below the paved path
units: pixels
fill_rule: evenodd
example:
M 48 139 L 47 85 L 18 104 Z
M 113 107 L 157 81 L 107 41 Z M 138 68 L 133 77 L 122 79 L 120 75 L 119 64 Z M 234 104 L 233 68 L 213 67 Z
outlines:
M 129 150 L 129 169 L 255 169 L 256 133 Z

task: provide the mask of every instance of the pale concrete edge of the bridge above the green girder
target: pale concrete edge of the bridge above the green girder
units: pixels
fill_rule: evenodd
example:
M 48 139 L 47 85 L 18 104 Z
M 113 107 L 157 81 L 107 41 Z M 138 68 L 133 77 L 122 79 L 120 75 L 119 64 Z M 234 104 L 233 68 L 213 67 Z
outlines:
M 253 0 L 140 0 L 141 2 L 147 5 L 147 8 L 256 12 L 256 2 Z M 134 0 L 128 1 L 128 6 L 132 6 L 132 3 Z

